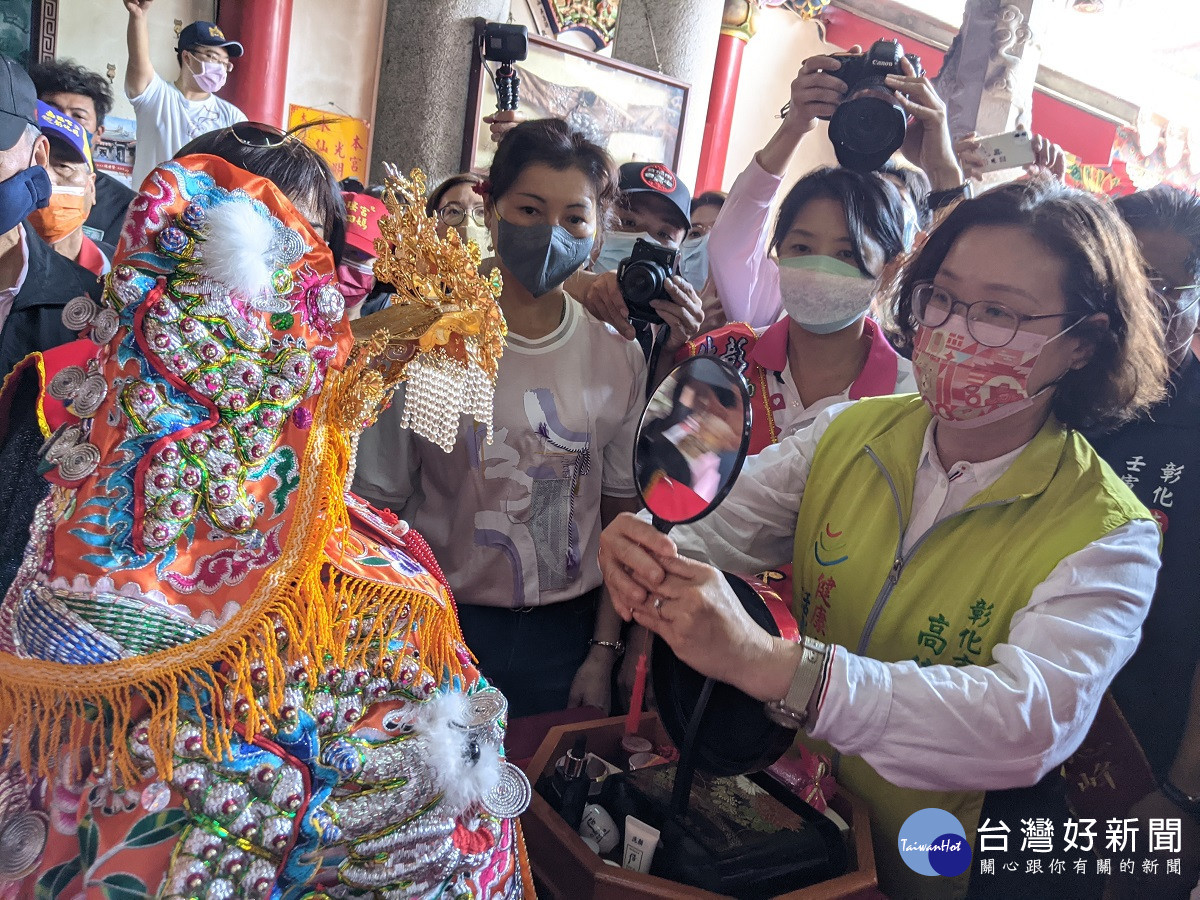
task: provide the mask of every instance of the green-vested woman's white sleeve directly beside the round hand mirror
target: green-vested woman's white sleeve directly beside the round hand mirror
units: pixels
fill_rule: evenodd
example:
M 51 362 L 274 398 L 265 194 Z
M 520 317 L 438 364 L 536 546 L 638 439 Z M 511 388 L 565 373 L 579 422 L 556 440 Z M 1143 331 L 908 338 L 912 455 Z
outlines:
M 679 552 L 743 575 L 791 563 L 812 455 L 829 424 L 850 406 L 821 410 L 811 425 L 749 457 L 715 511 L 671 532 Z

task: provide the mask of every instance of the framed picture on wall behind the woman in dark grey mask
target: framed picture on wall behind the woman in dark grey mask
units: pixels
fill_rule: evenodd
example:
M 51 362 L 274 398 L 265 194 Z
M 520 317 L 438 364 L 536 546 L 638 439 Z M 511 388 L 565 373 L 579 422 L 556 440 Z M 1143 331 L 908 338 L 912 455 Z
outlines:
M 462 170 L 486 172 L 496 145 L 484 116 L 496 112 L 494 62 L 476 46 L 472 61 Z M 521 78 L 518 110 L 526 119 L 565 119 L 605 148 L 618 164 L 665 162 L 679 167 L 689 85 L 640 66 L 529 35 L 529 56 L 514 64 Z

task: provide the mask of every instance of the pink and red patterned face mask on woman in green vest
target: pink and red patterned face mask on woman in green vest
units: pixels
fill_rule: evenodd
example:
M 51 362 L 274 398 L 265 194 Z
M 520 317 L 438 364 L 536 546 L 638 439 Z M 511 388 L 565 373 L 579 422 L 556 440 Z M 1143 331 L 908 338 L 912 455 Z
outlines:
M 1055 379 L 1030 395 L 1030 373 L 1042 350 L 1075 324 L 1054 336 L 1018 331 L 1004 347 L 985 347 L 967 331 L 966 318 L 955 313 L 937 328 L 917 331 L 912 352 L 917 389 L 934 415 L 952 428 L 1007 419 L 1057 384 Z

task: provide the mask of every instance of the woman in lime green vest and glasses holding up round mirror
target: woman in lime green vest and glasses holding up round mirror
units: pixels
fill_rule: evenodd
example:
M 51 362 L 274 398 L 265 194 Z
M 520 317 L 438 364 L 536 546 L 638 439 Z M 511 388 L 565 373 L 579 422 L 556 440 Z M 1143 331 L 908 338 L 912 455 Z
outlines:
M 923 874 L 906 820 L 946 810 L 973 846 L 983 792 L 1060 764 L 1138 646 L 1158 532 L 1079 428 L 1163 396 L 1148 298 L 1102 200 L 1042 180 L 966 200 L 890 288 L 919 396 L 824 410 L 670 538 L 622 516 L 601 539 L 623 617 L 834 756 L 889 896 L 966 892 L 970 852 Z M 800 643 L 718 571 L 787 562 Z

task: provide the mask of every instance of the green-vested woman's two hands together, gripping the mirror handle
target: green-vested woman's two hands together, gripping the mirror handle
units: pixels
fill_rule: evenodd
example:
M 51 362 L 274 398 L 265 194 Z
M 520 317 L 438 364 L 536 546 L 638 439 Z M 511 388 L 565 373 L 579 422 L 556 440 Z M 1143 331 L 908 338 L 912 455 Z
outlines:
M 662 637 L 701 674 L 761 700 L 787 692 L 799 656 L 750 618 L 718 569 L 678 556 L 648 522 L 617 517 L 600 535 L 600 570 L 622 618 Z

